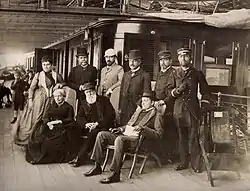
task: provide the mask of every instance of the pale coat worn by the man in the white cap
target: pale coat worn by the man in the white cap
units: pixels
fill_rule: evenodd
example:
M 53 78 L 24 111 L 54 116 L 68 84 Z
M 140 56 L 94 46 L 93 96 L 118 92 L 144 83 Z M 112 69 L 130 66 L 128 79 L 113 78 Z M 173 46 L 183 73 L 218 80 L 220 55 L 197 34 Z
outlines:
M 108 89 L 114 90 L 121 85 L 124 70 L 122 66 L 114 64 L 110 67 L 105 66 L 101 70 L 101 81 L 98 88 L 99 95 L 105 95 Z

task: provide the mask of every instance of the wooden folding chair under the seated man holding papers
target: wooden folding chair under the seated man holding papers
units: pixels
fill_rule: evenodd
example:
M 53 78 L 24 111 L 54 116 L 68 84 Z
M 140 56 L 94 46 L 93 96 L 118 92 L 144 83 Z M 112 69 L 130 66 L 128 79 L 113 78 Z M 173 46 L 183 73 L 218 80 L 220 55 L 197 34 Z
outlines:
M 141 165 L 141 168 L 139 170 L 139 174 L 142 173 L 143 169 L 144 169 L 144 166 L 147 162 L 147 159 L 152 156 L 155 161 L 157 162 L 158 166 L 161 168 L 162 165 L 161 165 L 161 162 L 160 162 L 160 158 L 152 151 L 148 151 L 146 148 L 141 148 L 142 146 L 142 143 L 144 141 L 144 136 L 140 135 L 139 138 L 138 138 L 138 143 L 137 143 L 137 146 L 134 150 L 130 150 L 130 151 L 127 151 L 124 153 L 123 155 L 123 161 L 122 163 L 124 163 L 125 159 L 127 156 L 132 156 L 133 157 L 133 162 L 132 162 L 132 165 L 131 165 L 131 168 L 130 168 L 130 171 L 129 171 L 129 175 L 128 175 L 128 178 L 131 178 L 132 177 L 132 174 L 134 172 L 134 168 L 135 168 L 135 164 L 136 164 L 136 160 L 138 158 L 143 158 L 143 162 L 142 162 L 142 165 Z M 105 170 L 105 167 L 107 165 L 107 162 L 108 162 L 108 158 L 109 158 L 109 153 L 110 153 L 110 150 L 114 150 L 115 149 L 115 146 L 114 145 L 108 145 L 106 147 L 107 151 L 106 151 L 106 156 L 105 156 L 105 159 L 104 159 L 104 162 L 103 162 L 103 166 L 102 166 L 102 171 Z

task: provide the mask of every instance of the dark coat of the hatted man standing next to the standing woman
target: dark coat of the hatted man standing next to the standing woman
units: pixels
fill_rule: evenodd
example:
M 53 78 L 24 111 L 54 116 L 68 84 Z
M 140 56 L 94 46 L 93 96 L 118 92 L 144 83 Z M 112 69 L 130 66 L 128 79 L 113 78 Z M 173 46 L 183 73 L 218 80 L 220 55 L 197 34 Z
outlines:
M 80 96 L 79 87 L 87 82 L 96 84 L 97 70 L 94 66 L 88 65 L 86 68 L 78 65 L 72 68 L 69 78 L 68 86 L 77 92 L 77 98 Z

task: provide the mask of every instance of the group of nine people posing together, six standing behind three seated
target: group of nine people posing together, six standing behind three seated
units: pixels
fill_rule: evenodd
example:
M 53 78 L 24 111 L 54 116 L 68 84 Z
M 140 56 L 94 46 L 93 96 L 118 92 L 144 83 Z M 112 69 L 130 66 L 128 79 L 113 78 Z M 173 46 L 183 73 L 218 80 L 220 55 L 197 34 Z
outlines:
M 120 181 L 123 154 L 136 147 L 139 136 L 148 145 L 154 144 L 153 149 L 163 143 L 169 158 L 178 138 L 180 164 L 176 170 L 188 168 L 191 162 L 193 170 L 201 172 L 198 129 L 201 111 L 209 108 L 210 92 L 203 73 L 191 64 L 191 50 L 180 48 L 177 53 L 177 69 L 172 67 L 169 50 L 158 53 L 160 71 L 154 91 L 150 75 L 142 69 L 140 50 L 129 51 L 130 70 L 125 73 L 115 50 L 106 50 L 107 65 L 101 70 L 100 83 L 85 48 L 77 49 L 78 65 L 67 82 L 44 56 L 43 71 L 34 76 L 27 104 L 16 122 L 15 143 L 26 145 L 26 160 L 31 164 L 68 162 L 78 167 L 90 158 L 95 165 L 85 173 L 87 177 L 102 173 L 105 148 L 114 144 L 111 174 L 100 181 L 107 184 Z M 77 94 L 76 117 L 65 101 L 66 85 Z M 116 88 L 120 88 L 118 117 L 110 101 L 111 96 L 119 96 L 112 95 Z

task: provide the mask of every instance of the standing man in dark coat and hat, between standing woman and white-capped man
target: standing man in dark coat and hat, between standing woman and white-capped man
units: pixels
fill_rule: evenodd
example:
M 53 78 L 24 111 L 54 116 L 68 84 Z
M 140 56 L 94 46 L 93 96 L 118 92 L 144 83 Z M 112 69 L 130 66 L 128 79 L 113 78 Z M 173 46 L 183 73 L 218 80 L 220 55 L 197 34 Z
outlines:
M 88 53 L 85 48 L 77 48 L 77 66 L 71 69 L 68 78 L 68 86 L 74 89 L 77 93 L 78 109 L 80 108 L 82 100 L 85 98 L 83 91 L 83 84 L 90 82 L 96 84 L 97 70 L 94 66 L 88 64 Z

